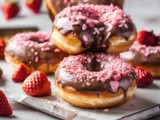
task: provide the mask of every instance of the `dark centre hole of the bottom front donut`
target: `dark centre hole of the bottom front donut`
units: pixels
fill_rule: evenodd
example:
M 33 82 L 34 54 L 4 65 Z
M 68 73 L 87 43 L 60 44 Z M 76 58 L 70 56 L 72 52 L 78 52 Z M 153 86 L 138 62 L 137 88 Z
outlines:
M 104 65 L 100 61 L 97 61 L 97 59 L 91 59 L 91 62 L 83 64 L 83 66 L 91 72 L 99 72 L 104 69 Z

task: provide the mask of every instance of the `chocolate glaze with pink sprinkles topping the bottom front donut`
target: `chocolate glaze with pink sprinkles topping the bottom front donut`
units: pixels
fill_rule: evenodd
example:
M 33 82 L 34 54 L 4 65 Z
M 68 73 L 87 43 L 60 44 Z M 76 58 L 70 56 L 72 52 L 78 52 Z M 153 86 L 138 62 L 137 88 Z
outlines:
M 70 56 L 69 58 L 64 59 L 56 71 L 55 80 L 58 83 L 60 83 L 63 87 L 72 86 L 73 88 L 79 91 L 107 90 L 111 92 L 117 92 L 119 87 L 127 91 L 128 88 L 130 88 L 130 86 L 132 85 L 133 80 L 136 79 L 134 69 L 130 65 L 128 65 L 125 61 L 122 61 L 120 58 L 110 56 L 110 55 L 107 56 L 103 53 L 98 53 L 98 54 L 100 54 L 101 56 L 105 56 L 104 60 L 97 58 L 95 54 L 88 55 L 87 59 L 89 58 L 88 59 L 89 61 L 82 58 L 86 56 L 86 54 L 78 55 L 78 56 Z M 78 57 L 79 57 L 79 60 L 77 60 Z M 84 59 L 84 61 L 80 59 Z M 115 68 L 115 66 L 112 63 L 110 63 L 113 59 L 116 62 L 119 62 L 119 64 L 121 65 Z M 77 61 L 80 63 L 78 63 Z M 69 62 L 70 65 L 67 65 L 69 64 L 67 62 Z M 77 63 L 76 66 L 79 66 L 81 64 L 81 67 L 76 67 L 72 65 L 75 63 Z M 72 69 L 72 67 L 76 67 L 75 69 L 73 68 L 75 70 L 74 73 L 72 70 L 70 70 Z M 80 70 L 83 72 L 82 73 L 83 75 L 79 74 Z M 111 72 L 110 70 L 112 70 L 112 74 L 109 75 L 108 73 Z M 124 70 L 126 75 L 124 75 L 122 72 Z M 76 72 L 76 71 L 79 71 L 79 72 Z M 101 72 L 104 72 L 105 76 L 101 77 L 101 75 L 104 75 L 104 74 L 101 74 Z M 94 73 L 98 76 L 96 75 L 94 76 Z M 120 76 L 116 77 L 117 75 L 120 75 Z M 117 82 L 118 86 L 115 87 L 114 84 L 111 85 L 112 82 Z

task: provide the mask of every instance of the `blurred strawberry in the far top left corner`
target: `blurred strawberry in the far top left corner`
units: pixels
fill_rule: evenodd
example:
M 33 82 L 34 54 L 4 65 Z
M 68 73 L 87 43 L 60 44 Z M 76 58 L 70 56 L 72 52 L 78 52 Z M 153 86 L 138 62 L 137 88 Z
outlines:
M 20 11 L 18 2 L 16 0 L 6 0 L 2 4 L 2 11 L 7 20 L 15 17 Z

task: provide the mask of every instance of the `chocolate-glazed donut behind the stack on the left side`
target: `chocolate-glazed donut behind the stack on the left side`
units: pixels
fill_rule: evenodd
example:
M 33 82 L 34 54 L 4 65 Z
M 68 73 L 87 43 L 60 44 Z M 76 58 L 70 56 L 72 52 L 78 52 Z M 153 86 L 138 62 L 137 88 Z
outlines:
M 16 67 L 27 65 L 31 72 L 53 73 L 59 62 L 68 56 L 50 39 L 50 32 L 27 32 L 13 36 L 5 49 L 5 60 Z

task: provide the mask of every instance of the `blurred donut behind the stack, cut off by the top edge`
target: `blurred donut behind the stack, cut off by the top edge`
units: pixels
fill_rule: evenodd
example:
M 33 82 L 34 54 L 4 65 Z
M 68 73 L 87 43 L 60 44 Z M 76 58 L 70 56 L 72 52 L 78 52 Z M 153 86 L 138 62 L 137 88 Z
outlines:
M 89 4 L 102 4 L 109 5 L 113 4 L 119 7 L 123 7 L 124 0 L 45 0 L 46 8 L 48 10 L 51 20 L 54 20 L 54 16 L 57 15 L 62 9 L 67 6 L 77 5 L 79 3 L 89 3 Z

